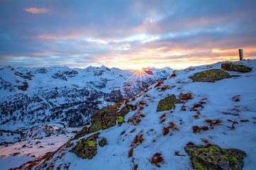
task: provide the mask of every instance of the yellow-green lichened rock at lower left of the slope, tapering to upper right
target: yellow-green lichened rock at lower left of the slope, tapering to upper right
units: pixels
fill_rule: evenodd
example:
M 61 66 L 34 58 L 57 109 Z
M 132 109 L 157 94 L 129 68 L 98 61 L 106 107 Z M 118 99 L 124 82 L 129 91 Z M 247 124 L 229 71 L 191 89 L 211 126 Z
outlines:
M 74 152 L 78 157 L 82 159 L 92 159 L 97 154 L 97 137 L 100 132 L 97 132 L 90 137 L 85 137 L 82 140 L 78 140 L 75 147 L 70 152 Z

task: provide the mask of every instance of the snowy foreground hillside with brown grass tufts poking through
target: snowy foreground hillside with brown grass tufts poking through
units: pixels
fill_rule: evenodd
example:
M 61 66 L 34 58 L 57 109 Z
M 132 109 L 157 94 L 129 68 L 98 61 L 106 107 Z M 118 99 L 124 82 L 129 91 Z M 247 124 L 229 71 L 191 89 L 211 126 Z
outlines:
M 206 142 L 223 148 L 236 148 L 246 152 L 243 169 L 256 169 L 256 60 L 242 61 L 247 67 L 252 67 L 249 73 L 229 72 L 231 77 L 220 81 L 193 82 L 189 79 L 196 72 L 206 69 L 220 69 L 220 64 L 193 67 L 176 72 L 160 86 L 150 86 L 148 91 L 130 99 L 132 105 L 144 101 L 140 111 L 130 111 L 124 118 L 125 123 L 115 125 L 107 130 L 100 130 L 98 140 L 107 139 L 105 147 L 97 147 L 97 154 L 92 159 L 82 159 L 69 152 L 76 143 L 92 134 L 78 140 L 70 141 L 73 146 L 63 147 L 53 157 L 34 169 L 193 169 L 184 147 L 188 142 L 205 145 Z M 163 88 L 164 87 L 164 88 Z M 190 92 L 193 98 L 176 104 L 171 111 L 156 112 L 159 101 L 174 94 Z M 239 95 L 239 101 L 233 99 Z M 141 102 L 142 103 L 142 102 Z M 122 103 L 122 108 L 124 103 Z M 131 123 L 134 115 L 142 115 L 137 125 Z M 218 125 L 210 125 L 206 120 L 220 120 Z M 164 128 L 170 123 L 176 128 L 164 134 Z M 136 124 L 136 123 L 135 123 Z M 207 126 L 209 129 L 193 132 L 192 127 Z M 132 157 L 128 153 L 132 148 L 134 137 L 142 134 L 142 143 L 133 145 Z M 4 148 L 1 148 L 3 150 Z M 9 148 L 11 149 L 11 148 Z M 9 151 L 6 148 L 6 152 Z M 39 149 L 39 148 L 38 148 Z M 51 150 L 53 152 L 53 150 Z M 36 151 L 35 151 L 36 152 Z M 161 153 L 164 162 L 159 166 L 151 164 L 151 157 Z M 2 152 L 1 152 L 2 153 Z M 26 152 L 27 153 L 27 152 Z M 36 154 L 36 153 L 35 153 Z M 6 169 L 7 160 L 0 159 L 1 169 Z M 22 159 L 17 159 L 21 160 Z M 18 161 L 17 161 L 18 162 Z M 18 163 L 16 164 L 18 165 Z M 25 166 L 23 166 L 25 167 Z

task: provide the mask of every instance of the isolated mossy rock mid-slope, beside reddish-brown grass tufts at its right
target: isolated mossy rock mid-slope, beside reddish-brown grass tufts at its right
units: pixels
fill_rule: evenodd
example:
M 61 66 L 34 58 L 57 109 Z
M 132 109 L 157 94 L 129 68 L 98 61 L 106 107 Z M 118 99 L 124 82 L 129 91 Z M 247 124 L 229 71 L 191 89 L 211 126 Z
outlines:
M 174 108 L 176 103 L 181 103 L 174 94 L 159 101 L 156 111 L 169 111 Z

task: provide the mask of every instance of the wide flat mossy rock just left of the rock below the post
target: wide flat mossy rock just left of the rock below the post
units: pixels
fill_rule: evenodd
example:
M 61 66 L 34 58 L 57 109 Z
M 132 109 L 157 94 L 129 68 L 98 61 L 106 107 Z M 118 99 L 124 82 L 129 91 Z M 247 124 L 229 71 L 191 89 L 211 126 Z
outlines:
M 215 82 L 221 79 L 230 78 L 230 74 L 223 69 L 208 69 L 202 72 L 193 74 L 189 77 L 193 81 L 202 81 L 202 82 Z

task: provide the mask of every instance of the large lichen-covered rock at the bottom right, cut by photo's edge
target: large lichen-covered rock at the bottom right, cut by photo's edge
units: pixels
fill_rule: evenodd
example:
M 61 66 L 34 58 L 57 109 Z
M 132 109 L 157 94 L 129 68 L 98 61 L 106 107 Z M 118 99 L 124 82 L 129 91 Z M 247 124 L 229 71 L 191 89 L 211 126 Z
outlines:
M 218 145 L 196 146 L 189 142 L 185 151 L 196 170 L 240 170 L 245 152 L 240 149 L 222 149 Z

